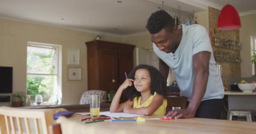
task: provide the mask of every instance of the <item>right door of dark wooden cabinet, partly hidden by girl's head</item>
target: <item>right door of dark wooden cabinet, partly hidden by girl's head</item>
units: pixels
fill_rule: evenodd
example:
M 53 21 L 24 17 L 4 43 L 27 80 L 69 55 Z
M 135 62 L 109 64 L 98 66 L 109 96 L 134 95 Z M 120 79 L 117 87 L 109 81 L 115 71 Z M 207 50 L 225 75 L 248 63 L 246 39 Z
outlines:
M 118 54 L 119 67 L 119 85 L 125 81 L 125 72 L 128 75 L 133 68 L 133 54 L 119 53 Z

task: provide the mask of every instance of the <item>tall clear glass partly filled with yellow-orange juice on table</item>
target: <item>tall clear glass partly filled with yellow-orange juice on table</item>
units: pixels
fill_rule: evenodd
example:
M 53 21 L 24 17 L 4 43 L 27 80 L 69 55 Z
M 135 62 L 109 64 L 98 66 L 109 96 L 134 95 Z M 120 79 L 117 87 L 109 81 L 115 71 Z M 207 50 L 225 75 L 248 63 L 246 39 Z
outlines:
M 99 95 L 90 95 L 90 115 L 91 117 L 99 117 L 99 105 L 100 105 L 100 98 Z

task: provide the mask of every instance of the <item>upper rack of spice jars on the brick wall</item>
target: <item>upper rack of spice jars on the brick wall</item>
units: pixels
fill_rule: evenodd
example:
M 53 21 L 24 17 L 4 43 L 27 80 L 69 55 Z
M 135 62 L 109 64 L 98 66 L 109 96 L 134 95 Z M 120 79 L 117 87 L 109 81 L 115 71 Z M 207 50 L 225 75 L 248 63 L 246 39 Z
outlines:
M 233 50 L 240 50 L 241 43 L 238 41 L 224 39 L 220 37 L 213 37 L 213 44 L 217 47 L 222 47 L 225 49 L 233 49 Z

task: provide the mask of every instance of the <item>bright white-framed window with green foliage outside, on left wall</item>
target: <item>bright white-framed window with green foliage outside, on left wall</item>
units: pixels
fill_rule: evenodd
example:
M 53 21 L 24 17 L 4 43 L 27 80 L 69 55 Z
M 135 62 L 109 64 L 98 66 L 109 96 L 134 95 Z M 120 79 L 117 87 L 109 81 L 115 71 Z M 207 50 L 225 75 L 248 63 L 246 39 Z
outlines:
M 61 46 L 28 42 L 27 95 L 35 103 L 36 95 L 44 104 L 61 103 Z

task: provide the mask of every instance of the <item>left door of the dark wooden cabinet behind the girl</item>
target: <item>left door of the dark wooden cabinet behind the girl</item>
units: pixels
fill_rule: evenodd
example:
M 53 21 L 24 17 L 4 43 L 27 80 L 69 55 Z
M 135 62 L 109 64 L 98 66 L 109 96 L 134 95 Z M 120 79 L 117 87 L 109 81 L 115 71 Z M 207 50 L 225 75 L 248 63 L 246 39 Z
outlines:
M 117 86 L 117 52 L 109 49 L 100 49 L 100 90 L 116 90 Z

